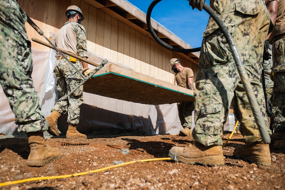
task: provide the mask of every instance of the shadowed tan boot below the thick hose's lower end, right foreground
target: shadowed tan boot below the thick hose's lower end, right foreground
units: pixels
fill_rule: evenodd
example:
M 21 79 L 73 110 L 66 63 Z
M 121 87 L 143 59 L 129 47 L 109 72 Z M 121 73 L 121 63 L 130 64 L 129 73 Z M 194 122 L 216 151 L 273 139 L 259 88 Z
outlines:
M 254 142 L 251 145 L 237 146 L 233 155 L 258 165 L 271 166 L 269 144 Z

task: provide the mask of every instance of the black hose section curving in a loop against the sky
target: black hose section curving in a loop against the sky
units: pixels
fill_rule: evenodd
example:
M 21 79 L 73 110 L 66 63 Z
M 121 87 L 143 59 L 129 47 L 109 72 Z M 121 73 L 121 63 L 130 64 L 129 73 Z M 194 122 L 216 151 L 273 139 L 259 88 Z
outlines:
M 152 9 L 153 7 L 159 3 L 160 1 L 162 0 L 154 0 L 152 1 L 152 3 L 150 3 L 148 9 L 147 9 L 147 12 L 146 12 L 146 24 L 147 24 L 147 27 L 148 27 L 148 30 L 150 31 L 150 34 L 152 35 L 152 37 L 160 44 L 162 45 L 163 47 L 165 47 L 166 49 L 168 50 L 172 50 L 172 51 L 175 51 L 175 52 L 180 52 L 180 53 L 193 53 L 193 52 L 199 52 L 201 50 L 201 47 L 200 48 L 191 48 L 191 49 L 182 49 L 182 48 L 176 48 L 176 47 L 173 47 L 173 46 L 170 46 L 169 44 L 166 44 L 164 41 L 162 41 L 157 35 L 156 33 L 154 32 L 152 26 L 151 26 L 151 21 L 150 21 L 150 15 L 151 15 L 151 12 L 152 12 Z

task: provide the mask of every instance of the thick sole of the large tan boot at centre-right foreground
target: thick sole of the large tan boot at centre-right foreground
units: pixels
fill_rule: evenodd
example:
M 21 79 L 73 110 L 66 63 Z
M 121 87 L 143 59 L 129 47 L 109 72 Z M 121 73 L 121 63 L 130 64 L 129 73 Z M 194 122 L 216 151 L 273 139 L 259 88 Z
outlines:
M 203 165 L 223 165 L 224 164 L 224 155 L 218 156 L 205 156 L 202 158 L 184 158 L 183 156 L 178 156 L 169 152 L 169 156 L 172 160 L 176 162 L 183 162 L 186 164 L 203 164 Z

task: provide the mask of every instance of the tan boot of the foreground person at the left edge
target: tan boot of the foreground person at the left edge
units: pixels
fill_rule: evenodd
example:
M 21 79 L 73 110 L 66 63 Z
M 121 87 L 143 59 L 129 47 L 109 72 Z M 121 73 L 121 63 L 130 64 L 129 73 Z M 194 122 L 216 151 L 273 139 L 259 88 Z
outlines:
M 28 166 L 44 166 L 51 161 L 61 158 L 58 148 L 51 148 L 46 144 L 43 133 L 28 132 L 27 136 L 30 144 L 30 154 L 27 160 Z

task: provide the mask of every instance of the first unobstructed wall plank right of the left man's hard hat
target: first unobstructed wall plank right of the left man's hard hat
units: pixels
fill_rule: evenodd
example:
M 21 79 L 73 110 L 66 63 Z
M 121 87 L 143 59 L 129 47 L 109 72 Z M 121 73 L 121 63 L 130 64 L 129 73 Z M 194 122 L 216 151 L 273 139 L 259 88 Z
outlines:
M 97 30 L 97 8 L 89 5 L 88 15 L 87 49 L 95 54 L 96 50 L 96 30 Z

